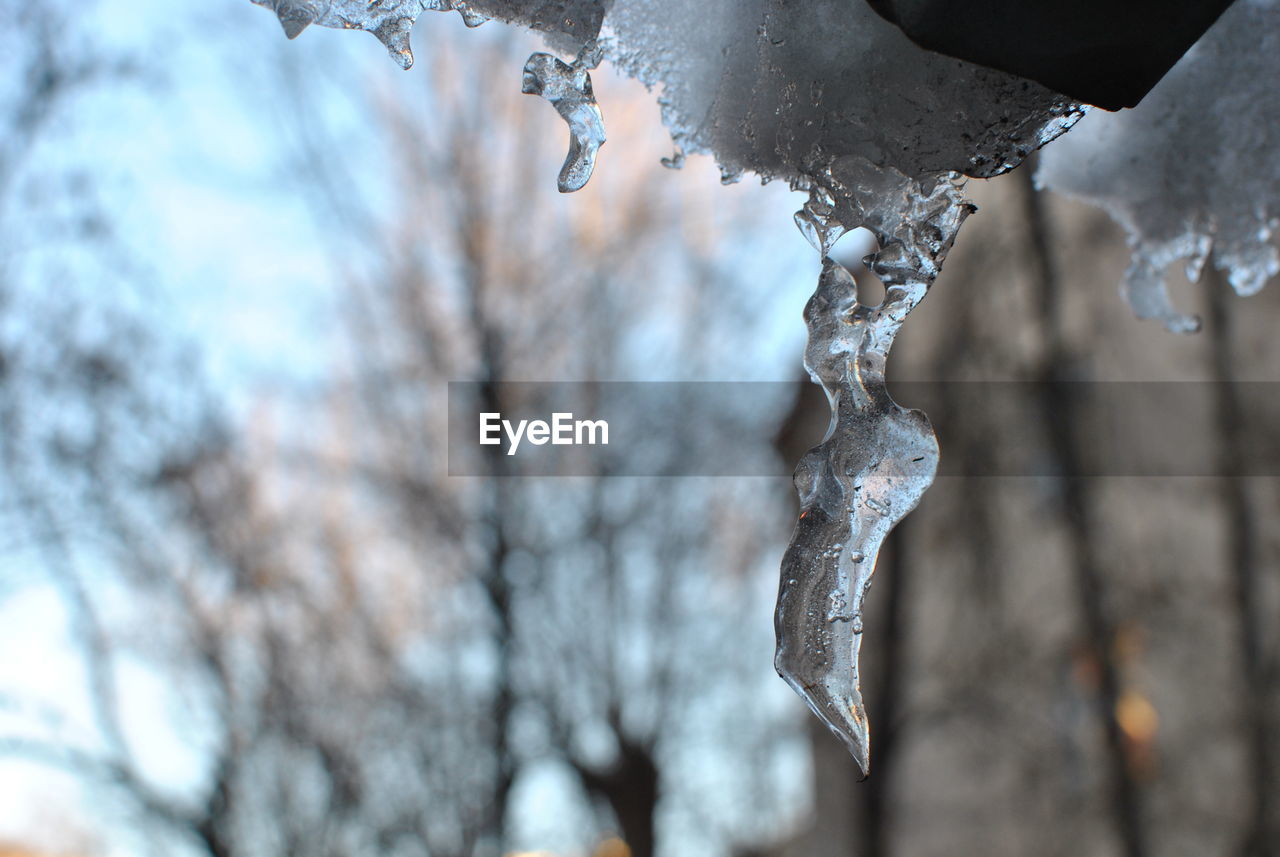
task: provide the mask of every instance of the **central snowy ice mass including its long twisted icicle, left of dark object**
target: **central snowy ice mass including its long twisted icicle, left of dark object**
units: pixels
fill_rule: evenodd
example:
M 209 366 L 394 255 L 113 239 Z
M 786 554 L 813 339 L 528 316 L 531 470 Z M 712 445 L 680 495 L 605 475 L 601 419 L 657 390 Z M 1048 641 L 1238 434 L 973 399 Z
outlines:
M 963 177 L 991 177 L 1065 132 L 1082 110 L 1014 75 L 914 45 L 865 3 L 813 0 L 253 0 L 296 36 L 310 23 L 378 36 L 404 68 L 428 10 L 526 24 L 573 65 L 535 54 L 525 91 L 548 97 L 573 141 L 561 189 L 589 178 L 604 139 L 585 56 L 596 51 L 662 91 L 676 148 L 713 153 L 726 182 L 750 170 L 809 192 L 796 215 L 824 257 L 809 302 L 806 366 L 832 405 L 827 439 L 796 482 L 803 515 L 783 562 L 777 666 L 865 770 L 858 689 L 861 602 L 888 531 L 937 467 L 933 431 L 884 388 L 893 336 L 973 210 Z M 593 60 L 594 61 L 594 60 Z M 827 257 L 847 230 L 879 242 L 878 307 Z

